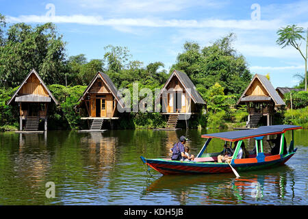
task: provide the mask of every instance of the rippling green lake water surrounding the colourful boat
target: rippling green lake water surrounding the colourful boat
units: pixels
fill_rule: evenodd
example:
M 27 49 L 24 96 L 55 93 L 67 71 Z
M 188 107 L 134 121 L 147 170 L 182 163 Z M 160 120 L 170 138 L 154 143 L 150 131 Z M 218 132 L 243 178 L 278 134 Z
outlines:
M 163 176 L 140 159 L 168 157 L 185 135 L 194 155 L 203 133 L 225 130 L 114 130 L 0 133 L 0 205 L 307 205 L 307 130 L 294 131 L 297 153 L 283 166 L 221 175 Z M 291 131 L 287 131 L 289 143 Z M 207 152 L 221 151 L 212 140 Z M 252 149 L 253 142 L 247 142 Z M 269 150 L 264 145 L 265 151 Z M 47 182 L 55 198 L 47 198 Z

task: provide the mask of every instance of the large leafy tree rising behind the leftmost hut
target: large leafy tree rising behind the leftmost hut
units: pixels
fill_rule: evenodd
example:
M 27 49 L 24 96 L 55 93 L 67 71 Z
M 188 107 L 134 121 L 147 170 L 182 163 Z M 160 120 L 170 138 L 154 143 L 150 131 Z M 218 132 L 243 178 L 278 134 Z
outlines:
M 10 26 L 0 47 L 0 86 L 18 86 L 35 68 L 47 84 L 65 83 L 65 42 L 53 23 Z

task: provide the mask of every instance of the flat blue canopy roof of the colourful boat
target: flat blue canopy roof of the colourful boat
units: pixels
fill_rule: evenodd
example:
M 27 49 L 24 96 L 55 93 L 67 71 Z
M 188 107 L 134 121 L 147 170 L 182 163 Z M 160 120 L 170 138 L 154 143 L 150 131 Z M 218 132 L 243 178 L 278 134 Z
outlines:
M 202 135 L 202 138 L 220 138 L 229 142 L 235 142 L 238 140 L 244 140 L 248 138 L 256 138 L 260 136 L 269 136 L 274 134 L 285 133 L 287 130 L 302 129 L 297 125 L 270 125 L 261 126 L 257 129 L 247 129 L 241 131 L 226 131 L 220 133 L 211 133 Z

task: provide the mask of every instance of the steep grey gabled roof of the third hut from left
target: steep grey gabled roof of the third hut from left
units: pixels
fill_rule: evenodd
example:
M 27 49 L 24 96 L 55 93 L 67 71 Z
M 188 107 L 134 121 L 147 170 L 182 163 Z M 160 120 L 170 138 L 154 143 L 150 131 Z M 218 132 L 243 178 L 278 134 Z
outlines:
M 185 91 L 188 92 L 188 94 L 190 95 L 190 98 L 192 99 L 192 101 L 194 101 L 194 103 L 206 104 L 205 101 L 203 100 L 202 96 L 196 90 L 194 83 L 192 83 L 192 81 L 190 80 L 188 75 L 186 75 L 185 73 L 182 73 L 179 70 L 173 70 L 173 73 L 170 75 L 170 77 L 166 81 L 164 87 L 162 88 L 162 90 L 160 90 L 157 99 L 160 98 L 160 96 L 162 95 L 162 92 L 164 91 L 164 89 L 166 89 L 166 87 L 168 86 L 168 83 L 170 83 L 172 77 L 174 77 L 174 76 L 177 77 L 177 79 L 179 79 L 179 81 L 181 82 L 181 84 L 185 88 Z

